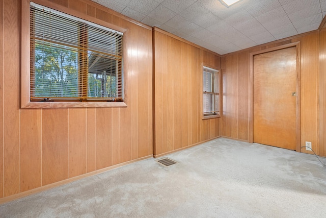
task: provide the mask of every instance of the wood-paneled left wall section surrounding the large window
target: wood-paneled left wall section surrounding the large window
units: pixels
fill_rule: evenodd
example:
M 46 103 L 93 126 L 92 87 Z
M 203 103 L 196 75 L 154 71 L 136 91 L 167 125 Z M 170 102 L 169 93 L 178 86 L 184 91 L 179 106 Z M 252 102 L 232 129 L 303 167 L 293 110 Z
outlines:
M 153 154 L 152 29 L 87 0 L 37 2 L 127 30 L 127 107 L 20 109 L 21 0 L 0 0 L 0 198 Z

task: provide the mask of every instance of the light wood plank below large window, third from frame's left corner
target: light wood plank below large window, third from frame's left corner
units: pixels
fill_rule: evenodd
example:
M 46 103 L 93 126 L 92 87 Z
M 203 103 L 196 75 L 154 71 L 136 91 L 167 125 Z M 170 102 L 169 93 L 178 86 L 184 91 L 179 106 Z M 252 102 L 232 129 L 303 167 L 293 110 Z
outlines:
M 69 178 L 87 173 L 87 109 L 69 109 Z

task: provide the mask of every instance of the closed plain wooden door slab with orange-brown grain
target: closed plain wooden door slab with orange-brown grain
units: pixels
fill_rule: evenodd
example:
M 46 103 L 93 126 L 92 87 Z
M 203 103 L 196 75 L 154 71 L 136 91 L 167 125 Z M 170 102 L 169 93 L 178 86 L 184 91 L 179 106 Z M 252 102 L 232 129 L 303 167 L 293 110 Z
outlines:
M 255 55 L 253 64 L 254 142 L 295 150 L 296 47 Z

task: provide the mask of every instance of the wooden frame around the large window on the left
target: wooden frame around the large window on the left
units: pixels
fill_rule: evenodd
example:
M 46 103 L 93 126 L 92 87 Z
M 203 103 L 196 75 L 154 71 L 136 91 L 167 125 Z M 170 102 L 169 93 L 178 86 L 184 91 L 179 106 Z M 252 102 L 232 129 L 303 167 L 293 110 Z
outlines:
M 119 32 L 122 32 L 125 37 L 126 29 L 115 26 L 112 23 L 108 23 L 97 19 L 95 17 L 71 10 L 64 6 L 60 6 L 54 3 L 50 3 L 44 0 L 22 0 L 21 4 L 21 74 L 20 74 L 20 108 L 78 108 L 78 107 L 126 107 L 127 98 L 126 98 L 126 81 L 127 74 L 123 73 L 123 99 L 124 102 L 34 102 L 31 101 L 31 70 L 30 70 L 30 2 L 42 5 L 44 7 L 51 8 L 53 10 L 66 13 L 68 15 L 84 19 L 96 25 L 100 25 L 106 28 L 110 28 Z M 124 41 L 124 40 L 123 40 Z M 123 43 L 123 56 L 125 57 L 126 50 L 125 44 Z M 122 62 L 122 67 L 124 68 L 124 62 Z

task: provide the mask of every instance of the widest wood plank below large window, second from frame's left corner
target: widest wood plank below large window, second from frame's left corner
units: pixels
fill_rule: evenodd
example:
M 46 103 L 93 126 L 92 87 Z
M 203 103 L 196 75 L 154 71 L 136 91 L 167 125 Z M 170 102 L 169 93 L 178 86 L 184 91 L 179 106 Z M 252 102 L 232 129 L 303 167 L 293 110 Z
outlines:
M 68 179 L 68 109 L 42 110 L 42 185 Z

